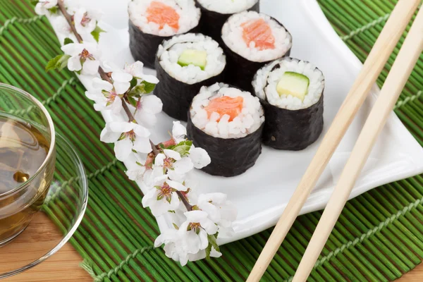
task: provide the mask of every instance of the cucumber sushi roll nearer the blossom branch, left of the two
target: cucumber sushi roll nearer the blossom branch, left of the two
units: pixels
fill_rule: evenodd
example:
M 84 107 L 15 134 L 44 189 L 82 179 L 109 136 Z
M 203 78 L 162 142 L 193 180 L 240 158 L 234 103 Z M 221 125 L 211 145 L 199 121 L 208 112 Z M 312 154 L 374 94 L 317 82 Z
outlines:
M 154 94 L 163 111 L 187 121 L 192 98 L 204 85 L 223 80 L 226 57 L 211 37 L 200 33 L 176 35 L 159 46 L 156 58 L 157 84 Z

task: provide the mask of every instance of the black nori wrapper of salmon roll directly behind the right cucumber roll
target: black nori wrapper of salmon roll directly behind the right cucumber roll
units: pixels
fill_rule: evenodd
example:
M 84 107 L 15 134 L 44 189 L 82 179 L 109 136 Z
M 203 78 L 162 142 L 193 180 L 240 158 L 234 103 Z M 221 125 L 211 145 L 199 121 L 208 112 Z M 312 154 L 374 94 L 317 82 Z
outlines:
M 275 20 L 279 25 L 283 26 L 275 18 L 272 19 Z M 286 27 L 283 26 L 283 28 L 285 28 L 286 32 L 290 34 Z M 223 48 L 223 51 L 226 54 L 225 82 L 240 87 L 242 90 L 254 93 L 254 91 L 252 90 L 251 82 L 252 78 L 254 78 L 255 73 L 259 70 L 259 68 L 262 68 L 264 65 L 274 60 L 265 62 L 250 61 L 232 51 L 231 48 L 229 48 L 225 44 L 225 42 L 223 42 L 223 40 L 221 47 Z M 288 51 L 286 51 L 286 54 L 284 54 L 282 57 L 290 55 L 291 47 L 288 49 Z

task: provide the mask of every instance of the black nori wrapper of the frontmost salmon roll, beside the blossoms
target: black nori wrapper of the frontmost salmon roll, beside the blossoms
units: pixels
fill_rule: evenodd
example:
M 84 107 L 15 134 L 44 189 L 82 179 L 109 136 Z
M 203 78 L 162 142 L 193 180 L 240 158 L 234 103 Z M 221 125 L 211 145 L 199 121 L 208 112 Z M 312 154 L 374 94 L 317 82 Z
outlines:
M 195 147 L 201 147 L 209 153 L 212 162 L 202 171 L 212 176 L 238 176 L 254 166 L 262 153 L 264 123 L 254 133 L 242 138 L 223 139 L 204 133 L 192 123 L 188 113 L 187 135 Z

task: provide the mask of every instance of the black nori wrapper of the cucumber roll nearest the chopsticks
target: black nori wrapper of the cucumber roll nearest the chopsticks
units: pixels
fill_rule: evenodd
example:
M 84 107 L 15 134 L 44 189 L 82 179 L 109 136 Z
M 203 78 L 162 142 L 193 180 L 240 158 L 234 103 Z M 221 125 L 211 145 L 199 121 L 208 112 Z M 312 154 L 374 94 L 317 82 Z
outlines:
M 277 64 L 271 71 L 278 67 Z M 264 85 L 263 89 L 266 86 Z M 263 144 L 274 149 L 291 151 L 299 151 L 312 145 L 323 130 L 324 89 L 321 91 L 321 97 L 316 104 L 298 110 L 282 109 L 260 99 L 265 118 Z

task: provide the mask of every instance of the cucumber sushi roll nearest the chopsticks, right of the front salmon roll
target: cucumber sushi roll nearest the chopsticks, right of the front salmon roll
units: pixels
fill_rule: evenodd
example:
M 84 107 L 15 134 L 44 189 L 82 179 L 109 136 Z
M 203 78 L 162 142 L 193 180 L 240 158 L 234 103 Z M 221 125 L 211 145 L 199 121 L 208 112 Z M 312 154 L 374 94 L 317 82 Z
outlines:
M 324 75 L 312 63 L 283 58 L 257 71 L 252 85 L 266 114 L 263 143 L 301 150 L 323 130 Z

